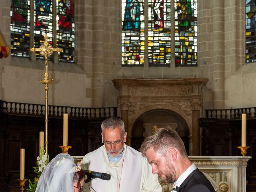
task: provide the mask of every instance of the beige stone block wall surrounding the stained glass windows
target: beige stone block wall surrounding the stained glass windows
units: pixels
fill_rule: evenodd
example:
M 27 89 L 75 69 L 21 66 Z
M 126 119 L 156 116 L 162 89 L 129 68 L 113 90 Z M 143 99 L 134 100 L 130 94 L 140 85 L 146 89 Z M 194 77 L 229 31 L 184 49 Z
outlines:
M 4 21 L 0 30 L 10 45 L 10 2 L 0 0 L 0 5 Z M 118 90 L 112 83 L 114 78 L 208 78 L 202 90 L 203 109 L 256 106 L 256 67 L 244 62 L 244 14 L 245 0 L 198 0 L 197 67 L 122 67 L 121 1 L 76 0 L 76 62 L 49 64 L 50 78 L 55 78 L 49 86 L 49 104 L 116 106 Z M 43 85 L 37 84 L 44 74 L 42 61 L 8 57 L 0 59 L 0 66 L 0 99 L 30 101 L 26 94 L 12 94 L 16 89 L 19 93 L 34 93 L 31 102 L 44 103 Z M 25 83 L 19 75 L 16 78 L 15 71 Z

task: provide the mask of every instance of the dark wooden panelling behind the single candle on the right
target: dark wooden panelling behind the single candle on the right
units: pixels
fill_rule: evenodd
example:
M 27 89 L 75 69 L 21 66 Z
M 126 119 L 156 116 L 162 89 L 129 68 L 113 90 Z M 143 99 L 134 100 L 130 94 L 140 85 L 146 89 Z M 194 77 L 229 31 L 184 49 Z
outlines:
M 200 126 L 202 127 L 202 155 L 241 156 L 241 150 L 237 148 L 241 146 L 241 120 L 201 118 Z M 222 130 L 221 133 L 220 130 Z M 256 188 L 256 118 L 247 119 L 247 145 L 251 148 L 246 156 L 252 156 L 248 161 L 246 172 L 247 191 L 251 192 Z

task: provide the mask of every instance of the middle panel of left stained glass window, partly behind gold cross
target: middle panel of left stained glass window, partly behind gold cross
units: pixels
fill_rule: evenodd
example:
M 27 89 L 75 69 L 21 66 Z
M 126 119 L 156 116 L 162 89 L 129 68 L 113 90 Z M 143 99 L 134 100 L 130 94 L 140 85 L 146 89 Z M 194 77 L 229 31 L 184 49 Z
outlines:
M 41 46 L 44 34 L 48 35 L 48 41 L 52 44 L 52 0 L 35 0 L 34 6 L 34 45 Z M 36 52 L 36 58 L 44 59 L 39 52 Z

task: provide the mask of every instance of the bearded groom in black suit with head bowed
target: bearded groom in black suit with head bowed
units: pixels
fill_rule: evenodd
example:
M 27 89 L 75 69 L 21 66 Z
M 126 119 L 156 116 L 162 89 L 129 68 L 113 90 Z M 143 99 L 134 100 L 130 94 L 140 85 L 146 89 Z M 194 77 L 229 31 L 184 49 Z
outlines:
M 159 128 L 145 139 L 140 151 L 151 164 L 153 174 L 173 183 L 172 192 L 215 192 L 209 180 L 190 162 L 175 131 Z

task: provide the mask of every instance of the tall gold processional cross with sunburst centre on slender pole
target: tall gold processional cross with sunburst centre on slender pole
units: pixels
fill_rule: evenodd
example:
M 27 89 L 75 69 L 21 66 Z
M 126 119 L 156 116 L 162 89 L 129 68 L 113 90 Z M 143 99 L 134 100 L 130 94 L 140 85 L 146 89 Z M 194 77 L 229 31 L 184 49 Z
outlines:
M 48 57 L 52 55 L 52 52 L 57 51 L 60 52 L 61 48 L 52 48 L 52 45 L 48 42 L 47 34 L 44 35 L 44 43 L 40 46 L 40 48 L 31 48 L 30 51 L 37 52 L 39 51 L 42 56 L 44 56 L 44 63 L 45 63 L 45 73 L 44 79 L 39 80 L 40 83 L 44 84 L 45 89 L 45 152 L 48 155 L 48 85 L 53 82 L 53 79 L 49 79 L 48 73 Z

